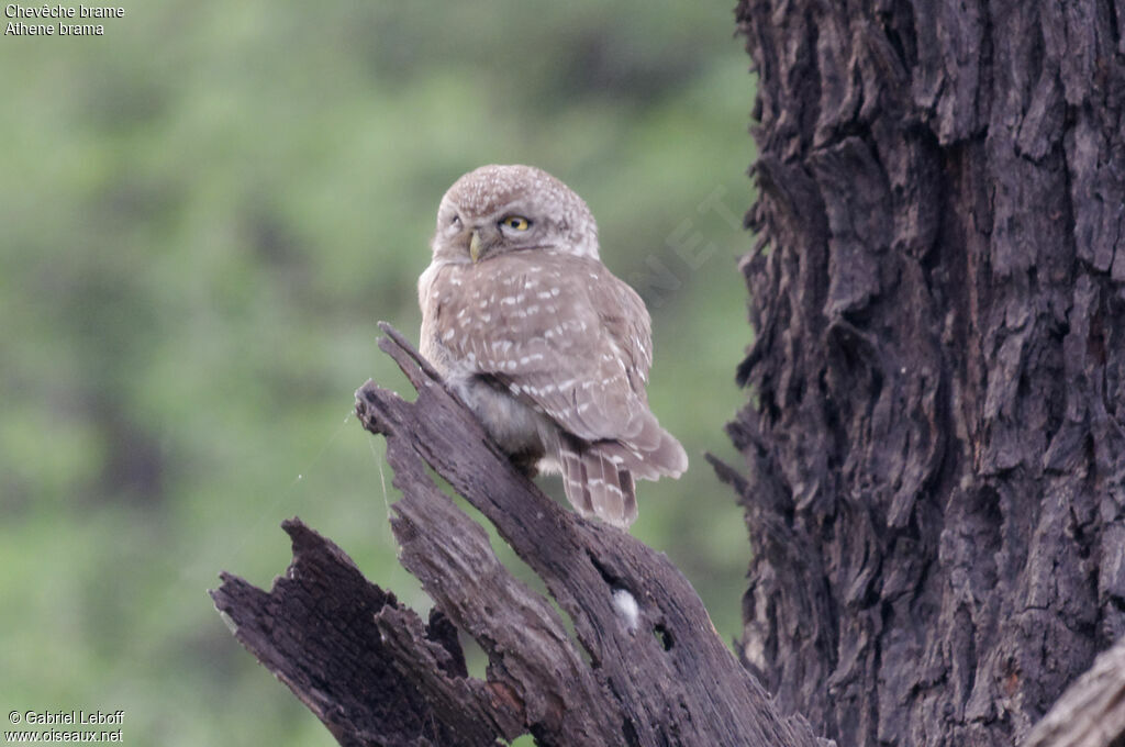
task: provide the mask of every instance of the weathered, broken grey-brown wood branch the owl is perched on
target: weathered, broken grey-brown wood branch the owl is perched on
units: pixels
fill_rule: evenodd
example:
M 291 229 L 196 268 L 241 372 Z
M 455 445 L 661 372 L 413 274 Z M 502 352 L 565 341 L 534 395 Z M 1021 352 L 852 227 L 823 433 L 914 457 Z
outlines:
M 296 521 L 286 523 L 292 565 L 269 594 L 228 575 L 213 593 L 238 640 L 340 744 L 487 745 L 523 731 L 541 745 L 826 744 L 800 717 L 777 713 L 664 555 L 540 492 L 381 326 L 380 348 L 418 396 L 368 381 L 357 413 L 387 439 L 403 494 L 392 525 L 403 565 L 434 601 L 430 623 Z M 428 468 L 542 578 L 577 640 Z M 450 622 L 487 652 L 487 682 L 467 676 Z

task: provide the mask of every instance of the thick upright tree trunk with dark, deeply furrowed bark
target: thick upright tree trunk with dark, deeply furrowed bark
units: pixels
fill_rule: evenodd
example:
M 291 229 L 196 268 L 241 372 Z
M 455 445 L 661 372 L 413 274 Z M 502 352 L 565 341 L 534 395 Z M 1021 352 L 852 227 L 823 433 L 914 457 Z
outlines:
M 1123 0 L 741 0 L 744 656 L 853 745 L 1011 745 L 1125 632 Z

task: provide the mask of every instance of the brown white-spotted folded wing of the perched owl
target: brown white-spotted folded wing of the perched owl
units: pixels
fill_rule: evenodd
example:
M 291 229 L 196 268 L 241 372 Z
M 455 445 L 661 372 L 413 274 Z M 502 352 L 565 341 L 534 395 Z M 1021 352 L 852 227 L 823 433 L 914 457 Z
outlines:
M 579 439 L 656 448 L 664 431 L 645 394 L 652 360 L 645 304 L 601 262 L 542 259 L 478 266 L 464 298 L 474 334 L 446 344 Z

